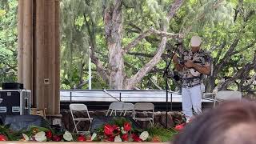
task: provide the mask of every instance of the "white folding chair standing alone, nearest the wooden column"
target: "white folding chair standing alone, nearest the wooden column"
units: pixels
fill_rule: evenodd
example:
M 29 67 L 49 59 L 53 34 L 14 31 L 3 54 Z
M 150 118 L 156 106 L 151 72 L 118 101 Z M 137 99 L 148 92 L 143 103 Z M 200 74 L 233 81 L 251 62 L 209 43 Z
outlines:
M 77 118 L 77 117 L 75 117 L 75 115 L 73 113 L 74 111 L 86 112 L 87 118 Z M 77 127 L 79 122 L 89 121 L 90 125 L 91 125 L 91 122 L 92 122 L 93 118 L 90 118 L 90 114 L 89 114 L 89 111 L 87 109 L 87 106 L 85 104 L 80 104 L 80 103 L 70 104 L 70 112 L 71 112 L 71 116 L 72 116 L 73 122 L 74 122 L 74 130 L 76 130 L 77 134 L 88 132 L 88 131 L 78 131 L 78 127 Z M 74 132 L 74 130 L 73 130 L 73 132 Z M 90 126 L 89 126 L 88 130 L 90 130 Z

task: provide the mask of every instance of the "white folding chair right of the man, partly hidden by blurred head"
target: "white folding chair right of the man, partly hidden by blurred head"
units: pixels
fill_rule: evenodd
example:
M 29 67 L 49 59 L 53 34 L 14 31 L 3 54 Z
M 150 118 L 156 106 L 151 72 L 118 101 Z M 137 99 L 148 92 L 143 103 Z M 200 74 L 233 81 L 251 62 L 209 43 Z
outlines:
M 240 91 L 221 90 L 217 92 L 214 98 L 214 106 L 216 105 L 216 102 L 234 101 L 234 100 L 241 100 L 241 99 L 242 99 L 242 93 Z

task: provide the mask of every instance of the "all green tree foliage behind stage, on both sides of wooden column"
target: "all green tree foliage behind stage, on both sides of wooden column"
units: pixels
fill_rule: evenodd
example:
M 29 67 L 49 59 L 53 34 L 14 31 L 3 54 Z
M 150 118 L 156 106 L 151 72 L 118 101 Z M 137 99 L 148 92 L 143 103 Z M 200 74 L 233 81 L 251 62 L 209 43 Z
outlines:
M 113 2 L 114 0 L 61 1 L 61 88 L 74 88 L 89 78 L 87 71 L 90 46 L 94 46 L 102 65 L 105 68 L 108 67 L 108 50 L 102 14 L 104 6 L 112 6 Z M 122 3 L 122 46 L 126 46 L 150 26 L 159 30 L 162 22 L 166 21 L 166 12 L 173 2 L 173 0 L 124 0 Z M 18 0 L 0 1 L 0 83 L 17 80 L 17 6 Z M 235 15 L 235 10 L 238 10 L 237 15 Z M 228 54 L 230 59 L 214 78 L 215 84 L 218 84 L 222 77 L 232 77 L 239 69 L 252 62 L 256 46 L 252 45 L 244 49 L 256 38 L 255 10 L 254 0 L 185 1 L 178 10 L 178 14 L 171 19 L 168 32 L 179 33 L 184 30 L 186 33 L 188 30 L 184 39 L 186 49 L 189 48 L 192 35 L 202 36 L 202 47 L 210 51 L 211 56 L 216 59 L 215 65 L 222 62 L 222 58 L 225 58 L 234 39 L 239 38 L 238 46 L 234 48 L 234 51 L 238 53 Z M 190 26 L 192 30 L 189 30 Z M 157 50 L 159 40 L 155 35 L 150 35 L 130 50 L 132 54 L 124 56 L 124 71 L 127 78 L 132 77 L 146 62 L 150 61 Z M 226 45 L 221 47 L 223 42 L 226 42 Z M 168 40 L 167 46 L 173 48 L 174 44 L 174 40 Z M 220 50 L 222 50 L 221 53 L 219 53 Z M 163 60 L 154 67 L 154 70 L 137 85 L 138 88 L 157 89 L 158 86 L 164 88 L 162 71 L 166 66 L 166 61 L 170 59 L 162 58 Z M 92 69 L 93 88 L 107 88 L 108 83 L 103 81 L 94 64 Z M 248 77 L 254 74 L 255 70 L 250 70 Z M 158 86 L 155 86 L 150 78 Z M 238 82 L 240 82 L 239 78 Z M 176 86 L 178 82 L 170 82 L 172 90 Z M 232 89 L 237 87 L 235 84 L 231 86 Z M 87 87 L 87 83 L 82 86 L 84 89 Z

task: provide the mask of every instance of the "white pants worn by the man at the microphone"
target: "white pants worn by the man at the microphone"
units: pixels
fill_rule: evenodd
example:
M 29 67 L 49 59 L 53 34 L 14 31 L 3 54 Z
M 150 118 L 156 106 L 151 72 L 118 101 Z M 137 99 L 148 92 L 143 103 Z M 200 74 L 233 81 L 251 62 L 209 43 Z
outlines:
M 186 118 L 193 116 L 192 107 L 196 114 L 202 113 L 202 92 L 200 85 L 182 87 L 182 110 Z

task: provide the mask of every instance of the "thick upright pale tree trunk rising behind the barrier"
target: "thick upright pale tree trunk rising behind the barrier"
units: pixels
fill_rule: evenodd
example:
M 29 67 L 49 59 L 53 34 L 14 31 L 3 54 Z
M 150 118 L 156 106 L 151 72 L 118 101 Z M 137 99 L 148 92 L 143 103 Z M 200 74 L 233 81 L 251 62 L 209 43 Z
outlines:
M 109 51 L 110 89 L 123 88 L 123 58 L 122 58 L 122 0 L 106 8 L 104 15 L 106 42 Z

